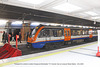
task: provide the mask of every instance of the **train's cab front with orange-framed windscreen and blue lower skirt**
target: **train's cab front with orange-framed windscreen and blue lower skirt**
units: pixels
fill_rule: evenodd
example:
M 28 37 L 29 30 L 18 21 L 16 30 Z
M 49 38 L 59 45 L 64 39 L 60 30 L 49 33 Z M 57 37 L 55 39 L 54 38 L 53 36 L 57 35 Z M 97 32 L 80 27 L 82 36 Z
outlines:
M 33 29 L 31 33 L 28 35 L 27 39 L 27 48 L 42 48 L 42 46 L 39 46 L 40 44 L 36 42 L 38 34 L 40 31 L 44 28 L 43 25 L 39 25 Z

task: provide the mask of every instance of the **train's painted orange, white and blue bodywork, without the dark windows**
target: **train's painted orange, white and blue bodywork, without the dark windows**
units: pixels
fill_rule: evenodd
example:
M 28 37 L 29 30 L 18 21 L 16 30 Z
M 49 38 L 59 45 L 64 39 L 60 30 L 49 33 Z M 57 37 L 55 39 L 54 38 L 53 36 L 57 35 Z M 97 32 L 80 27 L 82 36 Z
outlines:
M 47 43 L 56 43 L 56 42 L 71 42 L 73 40 L 81 40 L 81 39 L 92 39 L 96 38 L 97 34 L 92 33 L 92 29 L 88 29 L 89 34 L 88 35 L 77 35 L 73 36 L 71 35 L 71 29 L 70 28 L 63 28 L 63 36 L 44 36 L 39 37 L 41 31 L 45 27 L 42 26 L 38 29 L 35 36 L 33 38 L 28 37 L 28 43 L 32 45 L 33 48 L 43 48 Z M 50 30 L 50 29 L 49 29 Z M 45 31 L 42 31 L 43 34 Z M 45 34 L 46 35 L 46 34 Z M 50 44 L 52 46 L 52 44 Z

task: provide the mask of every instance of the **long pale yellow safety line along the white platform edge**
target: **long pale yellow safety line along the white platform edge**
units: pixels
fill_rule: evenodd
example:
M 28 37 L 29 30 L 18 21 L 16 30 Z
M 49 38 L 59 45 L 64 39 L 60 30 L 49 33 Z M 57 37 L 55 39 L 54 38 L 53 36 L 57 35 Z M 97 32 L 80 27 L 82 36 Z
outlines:
M 41 55 L 41 56 L 37 56 L 37 57 L 21 59 L 21 60 L 7 62 L 7 63 L 2 63 L 2 64 L 0 64 L 0 67 L 6 66 L 6 65 L 11 65 L 11 64 L 14 64 L 14 63 L 25 62 L 25 61 L 29 61 L 29 60 L 33 60 L 33 59 L 39 59 L 39 58 L 43 58 L 43 57 L 47 57 L 47 56 L 51 56 L 51 55 L 56 55 L 56 54 L 60 54 L 60 53 L 63 53 L 63 52 L 68 52 L 68 51 L 71 51 L 71 50 L 80 49 L 80 48 L 83 48 L 83 47 L 86 47 L 86 46 L 94 45 L 96 43 L 92 43 L 92 44 L 89 44 L 89 45 L 80 46 L 80 47 L 76 47 L 76 48 L 72 48 L 72 49 L 68 49 L 68 50 L 63 50 L 63 51 L 55 52 L 55 53 L 51 53 L 51 54 Z

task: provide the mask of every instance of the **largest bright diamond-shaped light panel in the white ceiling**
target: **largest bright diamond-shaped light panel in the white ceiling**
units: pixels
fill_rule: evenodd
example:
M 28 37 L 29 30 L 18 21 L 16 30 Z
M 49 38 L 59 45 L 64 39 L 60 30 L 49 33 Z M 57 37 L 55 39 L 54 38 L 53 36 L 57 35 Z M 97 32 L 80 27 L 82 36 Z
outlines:
M 80 7 L 72 5 L 70 3 L 64 3 L 61 5 L 55 6 L 53 8 L 60 11 L 65 11 L 65 12 L 73 12 L 73 11 L 77 11 L 81 9 Z

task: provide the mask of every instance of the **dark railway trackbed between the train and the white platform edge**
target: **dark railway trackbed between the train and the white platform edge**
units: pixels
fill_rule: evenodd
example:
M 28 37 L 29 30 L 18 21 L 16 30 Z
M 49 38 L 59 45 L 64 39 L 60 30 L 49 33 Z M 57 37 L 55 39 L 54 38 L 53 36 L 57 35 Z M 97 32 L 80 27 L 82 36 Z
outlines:
M 61 47 L 55 47 L 53 49 L 45 49 L 45 48 L 28 49 L 28 48 L 26 48 L 25 45 L 19 45 L 18 49 L 20 49 L 22 51 L 22 55 L 28 55 L 28 54 L 40 53 L 40 52 L 45 52 L 45 51 L 50 51 L 50 50 L 55 50 L 55 49 L 60 49 L 60 48 L 76 46 L 76 45 L 82 45 L 85 43 L 90 43 L 90 42 L 82 42 L 82 43 L 77 43 L 77 44 L 74 43 L 74 44 L 69 44 L 69 45 L 63 45 Z

